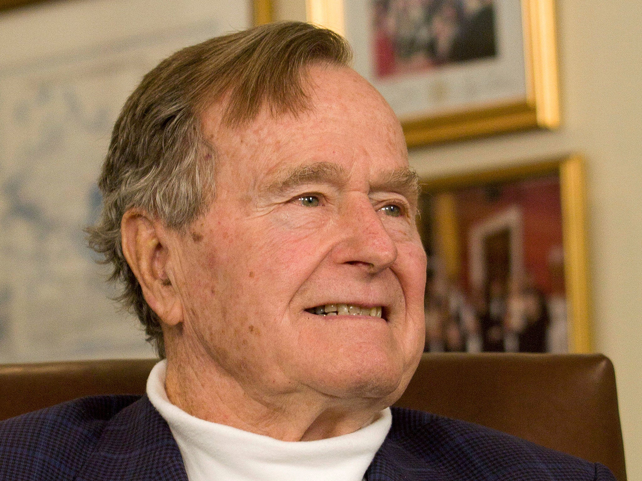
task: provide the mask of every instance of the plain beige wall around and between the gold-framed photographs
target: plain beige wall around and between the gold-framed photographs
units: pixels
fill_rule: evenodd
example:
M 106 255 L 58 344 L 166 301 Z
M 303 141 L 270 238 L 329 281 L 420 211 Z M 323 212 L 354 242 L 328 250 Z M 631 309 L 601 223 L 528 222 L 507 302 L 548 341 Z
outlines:
M 300 19 L 303 0 L 277 13 Z M 349 0 L 348 0 L 349 1 Z M 291 10 L 286 8 L 291 6 Z M 289 17 L 288 12 L 291 12 Z M 627 469 L 642 479 L 642 3 L 557 5 L 563 126 L 415 149 L 422 176 L 579 151 L 587 158 L 596 350 L 615 365 Z

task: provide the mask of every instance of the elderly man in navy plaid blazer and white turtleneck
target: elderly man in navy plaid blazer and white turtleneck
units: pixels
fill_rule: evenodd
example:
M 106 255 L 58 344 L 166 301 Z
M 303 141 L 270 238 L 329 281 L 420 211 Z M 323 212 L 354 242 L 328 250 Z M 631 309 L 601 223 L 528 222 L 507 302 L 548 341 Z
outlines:
M 481 426 L 390 409 L 424 346 L 417 179 L 349 47 L 302 23 L 143 79 L 92 246 L 160 357 L 147 395 L 0 425 L 2 480 L 610 480 Z

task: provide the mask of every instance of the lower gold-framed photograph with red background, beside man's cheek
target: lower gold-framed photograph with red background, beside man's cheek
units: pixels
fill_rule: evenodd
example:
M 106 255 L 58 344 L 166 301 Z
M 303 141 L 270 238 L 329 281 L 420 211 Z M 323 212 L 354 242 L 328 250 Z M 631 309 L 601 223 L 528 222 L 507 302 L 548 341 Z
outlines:
M 581 156 L 426 180 L 426 351 L 591 351 Z

